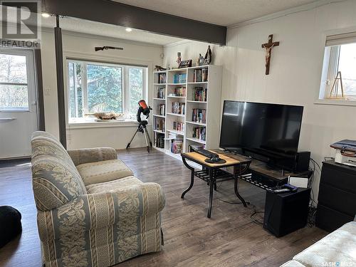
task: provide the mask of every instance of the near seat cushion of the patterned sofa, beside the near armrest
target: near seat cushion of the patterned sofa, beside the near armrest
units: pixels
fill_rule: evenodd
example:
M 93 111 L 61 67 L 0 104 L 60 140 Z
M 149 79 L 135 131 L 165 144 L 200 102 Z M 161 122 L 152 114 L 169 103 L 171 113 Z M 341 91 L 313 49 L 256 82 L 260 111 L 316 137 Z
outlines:
M 110 182 L 100 184 L 90 184 L 86 187 L 88 194 L 96 194 L 103 192 L 117 192 L 126 187 L 132 187 L 135 184 L 143 184 L 142 181 L 133 176 L 124 177 Z

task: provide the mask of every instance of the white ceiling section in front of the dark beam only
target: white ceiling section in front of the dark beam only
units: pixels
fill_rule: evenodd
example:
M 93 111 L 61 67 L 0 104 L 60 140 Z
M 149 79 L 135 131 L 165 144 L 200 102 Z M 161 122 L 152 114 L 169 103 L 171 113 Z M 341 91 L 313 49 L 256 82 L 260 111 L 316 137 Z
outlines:
M 112 0 L 221 26 L 257 19 L 315 0 Z

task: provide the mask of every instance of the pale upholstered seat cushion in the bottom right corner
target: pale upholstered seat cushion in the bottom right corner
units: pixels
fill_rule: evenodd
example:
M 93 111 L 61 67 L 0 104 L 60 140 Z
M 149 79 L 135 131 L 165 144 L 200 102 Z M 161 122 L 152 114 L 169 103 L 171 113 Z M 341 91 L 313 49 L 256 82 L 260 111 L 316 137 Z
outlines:
M 293 257 L 305 266 L 356 262 L 356 222 L 351 221 Z

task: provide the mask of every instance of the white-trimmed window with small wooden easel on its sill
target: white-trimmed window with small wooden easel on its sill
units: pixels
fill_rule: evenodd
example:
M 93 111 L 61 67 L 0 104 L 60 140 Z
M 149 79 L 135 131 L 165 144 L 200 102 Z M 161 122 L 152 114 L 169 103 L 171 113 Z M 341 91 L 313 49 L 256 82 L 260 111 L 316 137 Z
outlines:
M 339 72 L 342 88 L 340 80 L 335 81 Z M 319 98 L 356 100 L 356 32 L 327 36 Z

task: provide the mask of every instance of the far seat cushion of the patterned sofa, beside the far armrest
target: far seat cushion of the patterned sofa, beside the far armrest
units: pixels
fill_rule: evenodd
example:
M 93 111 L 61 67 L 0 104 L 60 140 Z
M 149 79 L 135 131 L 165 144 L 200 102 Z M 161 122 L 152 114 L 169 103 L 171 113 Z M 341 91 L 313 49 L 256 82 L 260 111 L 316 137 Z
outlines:
M 80 164 L 77 169 L 85 185 L 108 182 L 133 175 L 131 169 L 120 159 Z

